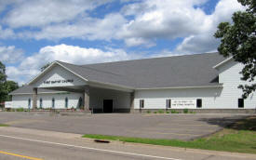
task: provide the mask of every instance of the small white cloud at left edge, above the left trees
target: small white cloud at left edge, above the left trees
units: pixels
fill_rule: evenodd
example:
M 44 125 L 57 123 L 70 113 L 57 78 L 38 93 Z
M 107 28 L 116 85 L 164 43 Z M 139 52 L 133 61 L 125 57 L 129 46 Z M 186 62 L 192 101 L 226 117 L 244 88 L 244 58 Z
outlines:
M 3 63 L 16 63 L 23 58 L 23 50 L 14 46 L 0 47 L 0 61 Z

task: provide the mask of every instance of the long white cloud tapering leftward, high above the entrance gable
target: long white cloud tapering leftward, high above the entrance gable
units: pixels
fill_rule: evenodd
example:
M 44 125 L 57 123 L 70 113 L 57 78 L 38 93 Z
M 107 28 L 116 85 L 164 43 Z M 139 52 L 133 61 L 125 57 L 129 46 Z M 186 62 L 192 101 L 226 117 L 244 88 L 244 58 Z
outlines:
M 106 40 L 115 38 L 116 31 L 119 31 L 126 22 L 120 14 L 109 14 L 103 19 L 83 18 L 72 24 L 59 23 L 48 25 L 39 32 L 19 33 L 22 38 L 30 37 L 39 39 L 59 40 L 71 37 L 89 40 Z

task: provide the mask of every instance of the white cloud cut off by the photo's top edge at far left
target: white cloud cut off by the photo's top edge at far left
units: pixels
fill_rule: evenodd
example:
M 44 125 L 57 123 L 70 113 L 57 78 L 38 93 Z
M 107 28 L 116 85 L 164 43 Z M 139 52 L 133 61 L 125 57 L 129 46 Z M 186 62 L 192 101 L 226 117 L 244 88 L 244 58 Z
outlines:
M 4 21 L 13 28 L 42 27 L 49 23 L 75 20 L 86 11 L 110 0 L 26 0 L 16 1 Z

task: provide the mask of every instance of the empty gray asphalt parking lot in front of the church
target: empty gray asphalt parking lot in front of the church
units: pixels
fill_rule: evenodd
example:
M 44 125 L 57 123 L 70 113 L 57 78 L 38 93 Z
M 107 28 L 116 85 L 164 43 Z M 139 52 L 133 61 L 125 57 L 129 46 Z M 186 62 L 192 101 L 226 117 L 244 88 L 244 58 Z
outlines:
M 0 112 L 0 124 L 77 134 L 193 140 L 232 124 L 245 114 L 52 113 Z

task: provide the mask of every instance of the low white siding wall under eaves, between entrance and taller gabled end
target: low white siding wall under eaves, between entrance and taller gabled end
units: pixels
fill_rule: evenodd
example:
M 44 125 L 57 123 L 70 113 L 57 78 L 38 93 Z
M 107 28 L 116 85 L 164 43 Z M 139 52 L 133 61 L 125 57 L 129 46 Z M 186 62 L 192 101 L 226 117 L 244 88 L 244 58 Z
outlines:
M 202 108 L 210 109 L 216 107 L 216 97 L 220 95 L 221 91 L 222 88 L 220 87 L 137 90 L 135 92 L 134 108 L 140 109 L 140 100 L 144 100 L 144 109 L 166 109 L 167 99 L 202 99 Z

